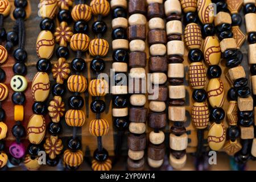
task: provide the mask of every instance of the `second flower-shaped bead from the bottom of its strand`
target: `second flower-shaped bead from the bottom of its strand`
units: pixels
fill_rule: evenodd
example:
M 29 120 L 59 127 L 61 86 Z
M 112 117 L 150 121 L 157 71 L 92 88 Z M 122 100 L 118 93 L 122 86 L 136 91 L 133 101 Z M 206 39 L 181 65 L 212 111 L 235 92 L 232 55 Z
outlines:
M 54 96 L 53 100 L 49 102 L 48 106 L 49 117 L 52 118 L 52 122 L 59 122 L 63 117 L 65 111 L 65 104 L 60 96 Z

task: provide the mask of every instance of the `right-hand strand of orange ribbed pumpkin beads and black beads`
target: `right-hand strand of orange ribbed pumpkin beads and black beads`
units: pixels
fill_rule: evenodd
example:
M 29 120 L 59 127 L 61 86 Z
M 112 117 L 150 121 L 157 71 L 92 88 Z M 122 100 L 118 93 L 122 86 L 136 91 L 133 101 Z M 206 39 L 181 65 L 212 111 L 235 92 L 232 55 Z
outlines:
M 96 119 L 90 122 L 90 134 L 97 137 L 98 147 L 93 153 L 92 169 L 93 171 L 109 171 L 112 168 L 112 161 L 109 159 L 108 151 L 103 148 L 102 136 L 108 134 L 109 123 L 106 119 L 101 118 L 101 113 L 105 111 L 106 104 L 100 97 L 108 93 L 108 82 L 99 76 L 100 72 L 105 69 L 105 62 L 102 57 L 106 56 L 109 51 L 109 43 L 102 39 L 107 30 L 106 23 L 102 20 L 110 12 L 109 2 L 106 0 L 93 0 L 90 2 L 92 13 L 97 17 L 96 22 L 92 25 L 92 31 L 97 35 L 89 45 L 89 53 L 94 59 L 91 62 L 92 71 L 96 72 L 96 79 L 90 81 L 89 93 L 94 100 L 90 104 L 90 109 L 96 113 Z M 123 111 L 123 110 L 122 110 Z M 113 117 L 122 117 L 120 110 L 113 110 Z

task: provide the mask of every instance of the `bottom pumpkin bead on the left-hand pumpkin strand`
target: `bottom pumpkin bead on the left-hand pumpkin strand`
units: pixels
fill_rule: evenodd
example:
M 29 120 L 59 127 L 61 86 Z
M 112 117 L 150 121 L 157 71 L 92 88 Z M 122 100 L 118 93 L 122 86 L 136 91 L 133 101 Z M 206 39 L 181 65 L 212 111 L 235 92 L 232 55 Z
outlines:
M 70 167 L 77 167 L 82 164 L 84 160 L 84 156 L 82 155 L 82 151 L 78 150 L 76 152 L 72 152 L 71 150 L 65 150 L 63 154 L 64 163 Z

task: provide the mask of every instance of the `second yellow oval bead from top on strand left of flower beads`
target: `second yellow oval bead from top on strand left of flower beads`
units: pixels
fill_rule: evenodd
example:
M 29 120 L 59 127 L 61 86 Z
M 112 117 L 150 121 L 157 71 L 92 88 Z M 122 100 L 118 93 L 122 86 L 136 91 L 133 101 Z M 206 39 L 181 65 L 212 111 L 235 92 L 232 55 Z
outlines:
M 49 59 L 53 55 L 55 40 L 51 31 L 43 30 L 36 40 L 36 53 L 40 59 Z

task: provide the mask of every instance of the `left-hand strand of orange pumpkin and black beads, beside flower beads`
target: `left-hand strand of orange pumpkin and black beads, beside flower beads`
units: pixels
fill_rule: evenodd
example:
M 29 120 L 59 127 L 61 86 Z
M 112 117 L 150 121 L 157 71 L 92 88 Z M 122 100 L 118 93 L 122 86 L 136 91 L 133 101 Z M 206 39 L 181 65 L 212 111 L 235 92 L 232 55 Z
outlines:
M 84 156 L 81 151 L 81 140 L 76 136 L 78 127 L 85 124 L 85 112 L 82 110 L 84 106 L 84 98 L 80 94 L 84 93 L 88 87 L 87 80 L 82 72 L 85 72 L 86 63 L 82 59 L 82 52 L 88 50 L 89 36 L 86 35 L 88 22 L 92 17 L 92 11 L 88 5 L 83 3 L 77 4 L 72 9 L 72 18 L 76 22 L 74 24 L 74 35 L 71 38 L 70 46 L 76 51 L 76 58 L 72 60 L 71 69 L 76 75 L 68 78 L 68 90 L 73 92 L 73 96 L 68 99 L 70 109 L 65 113 L 65 121 L 68 126 L 73 127 L 73 137 L 68 141 L 68 149 L 64 152 L 64 163 L 68 169 L 77 169 L 83 162 Z

